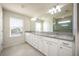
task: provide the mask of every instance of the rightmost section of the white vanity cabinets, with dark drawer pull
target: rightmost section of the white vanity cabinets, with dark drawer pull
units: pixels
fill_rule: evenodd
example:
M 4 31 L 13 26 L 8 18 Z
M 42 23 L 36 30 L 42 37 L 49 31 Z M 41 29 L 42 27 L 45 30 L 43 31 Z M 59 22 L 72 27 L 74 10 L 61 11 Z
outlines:
M 73 55 L 73 43 L 70 41 L 60 40 L 59 56 L 72 56 Z

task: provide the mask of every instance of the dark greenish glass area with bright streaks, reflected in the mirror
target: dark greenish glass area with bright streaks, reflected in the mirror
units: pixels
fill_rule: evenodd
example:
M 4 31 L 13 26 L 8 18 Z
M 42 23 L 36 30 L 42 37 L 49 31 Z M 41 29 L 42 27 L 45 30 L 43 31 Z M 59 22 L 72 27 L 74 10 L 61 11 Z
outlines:
M 72 33 L 72 16 L 53 20 L 54 32 L 70 32 Z

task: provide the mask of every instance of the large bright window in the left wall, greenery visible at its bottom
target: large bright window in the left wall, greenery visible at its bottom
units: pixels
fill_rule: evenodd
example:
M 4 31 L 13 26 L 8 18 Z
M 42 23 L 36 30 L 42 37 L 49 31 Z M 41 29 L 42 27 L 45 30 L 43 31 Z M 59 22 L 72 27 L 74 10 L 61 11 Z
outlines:
M 23 20 L 10 17 L 10 37 L 20 36 L 23 32 Z

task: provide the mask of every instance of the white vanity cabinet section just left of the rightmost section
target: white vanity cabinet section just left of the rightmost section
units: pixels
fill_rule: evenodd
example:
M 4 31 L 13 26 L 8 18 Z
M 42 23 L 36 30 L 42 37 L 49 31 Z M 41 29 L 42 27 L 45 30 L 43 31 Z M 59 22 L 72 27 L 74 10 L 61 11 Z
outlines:
M 57 39 L 42 37 L 43 47 L 42 52 L 48 56 L 57 56 Z

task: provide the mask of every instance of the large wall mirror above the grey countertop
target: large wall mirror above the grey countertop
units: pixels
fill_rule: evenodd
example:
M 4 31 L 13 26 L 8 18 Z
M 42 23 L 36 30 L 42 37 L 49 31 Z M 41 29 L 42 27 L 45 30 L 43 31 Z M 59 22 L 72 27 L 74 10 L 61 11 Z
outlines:
M 50 5 L 50 4 L 49 4 Z M 51 4 L 53 5 L 53 4 Z M 51 8 L 53 10 L 51 10 Z M 53 7 L 48 8 L 48 12 L 39 16 L 40 26 L 35 27 L 35 22 L 32 22 L 32 31 L 36 28 L 42 28 L 40 32 L 69 32 L 72 33 L 72 20 L 73 20 L 73 4 L 55 4 Z M 34 20 L 34 19 L 33 19 Z

